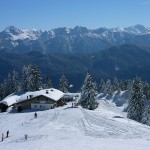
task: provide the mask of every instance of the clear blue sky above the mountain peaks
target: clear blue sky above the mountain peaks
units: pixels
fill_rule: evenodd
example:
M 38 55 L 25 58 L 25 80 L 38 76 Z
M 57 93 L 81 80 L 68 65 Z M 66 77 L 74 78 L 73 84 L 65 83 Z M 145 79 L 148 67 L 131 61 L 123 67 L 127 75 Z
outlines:
M 85 26 L 150 27 L 150 0 L 0 0 L 0 31 Z

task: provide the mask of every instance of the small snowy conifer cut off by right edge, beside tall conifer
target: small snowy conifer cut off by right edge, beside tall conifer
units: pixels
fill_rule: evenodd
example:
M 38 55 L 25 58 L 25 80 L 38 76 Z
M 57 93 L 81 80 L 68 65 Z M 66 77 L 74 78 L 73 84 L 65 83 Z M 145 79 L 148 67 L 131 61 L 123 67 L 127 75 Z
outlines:
M 144 109 L 144 113 L 142 115 L 142 121 L 143 124 L 150 126 L 150 106 L 146 106 Z

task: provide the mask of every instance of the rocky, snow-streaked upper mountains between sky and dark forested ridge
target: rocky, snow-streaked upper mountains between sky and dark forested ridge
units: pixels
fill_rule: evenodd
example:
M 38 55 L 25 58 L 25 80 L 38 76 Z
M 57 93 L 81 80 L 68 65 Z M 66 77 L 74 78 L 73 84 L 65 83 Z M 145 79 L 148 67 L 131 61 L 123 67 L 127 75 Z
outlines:
M 76 26 L 43 31 L 10 26 L 0 32 L 0 51 L 11 53 L 93 53 L 122 44 L 149 47 L 150 28 L 135 25 L 91 30 Z

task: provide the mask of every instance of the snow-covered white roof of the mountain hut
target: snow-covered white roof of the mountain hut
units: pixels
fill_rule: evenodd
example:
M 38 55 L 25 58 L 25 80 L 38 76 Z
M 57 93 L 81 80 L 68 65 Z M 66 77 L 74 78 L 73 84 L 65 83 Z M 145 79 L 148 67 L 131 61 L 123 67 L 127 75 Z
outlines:
M 61 97 L 63 97 L 64 93 L 54 88 L 44 89 L 44 90 L 34 91 L 34 92 L 24 92 L 22 94 L 14 93 L 14 94 L 7 96 L 0 103 L 3 103 L 7 106 L 11 106 L 15 103 L 29 100 L 30 95 L 32 96 L 32 98 L 43 95 L 54 101 L 58 101 Z M 28 99 L 27 99 L 27 96 L 28 96 Z

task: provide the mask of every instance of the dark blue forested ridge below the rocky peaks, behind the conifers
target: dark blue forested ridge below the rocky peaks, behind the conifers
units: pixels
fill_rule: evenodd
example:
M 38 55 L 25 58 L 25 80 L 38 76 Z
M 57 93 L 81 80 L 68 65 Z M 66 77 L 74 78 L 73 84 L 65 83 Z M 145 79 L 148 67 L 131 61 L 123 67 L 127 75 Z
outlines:
M 0 81 L 7 78 L 15 68 L 19 74 L 24 65 L 40 67 L 43 79 L 52 78 L 53 86 L 58 87 L 59 79 L 65 74 L 70 90 L 78 91 L 83 84 L 87 71 L 90 71 L 98 85 L 100 80 L 114 77 L 126 80 L 135 76 L 150 82 L 150 49 L 136 45 L 113 46 L 105 51 L 84 54 L 51 54 L 32 51 L 24 54 L 0 52 Z

